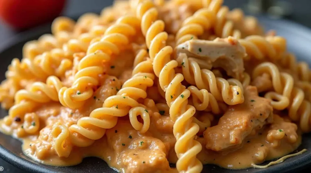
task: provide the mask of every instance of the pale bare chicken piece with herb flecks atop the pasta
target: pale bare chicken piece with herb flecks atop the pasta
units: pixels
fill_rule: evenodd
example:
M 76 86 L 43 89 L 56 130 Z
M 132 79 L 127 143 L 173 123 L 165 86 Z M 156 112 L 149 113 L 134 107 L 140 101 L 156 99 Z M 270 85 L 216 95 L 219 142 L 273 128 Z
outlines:
M 233 37 L 216 38 L 213 41 L 189 40 L 177 46 L 177 57 L 180 53 L 188 57 L 204 60 L 208 69 L 223 68 L 228 76 L 239 79 L 244 71 L 243 58 L 246 51 Z

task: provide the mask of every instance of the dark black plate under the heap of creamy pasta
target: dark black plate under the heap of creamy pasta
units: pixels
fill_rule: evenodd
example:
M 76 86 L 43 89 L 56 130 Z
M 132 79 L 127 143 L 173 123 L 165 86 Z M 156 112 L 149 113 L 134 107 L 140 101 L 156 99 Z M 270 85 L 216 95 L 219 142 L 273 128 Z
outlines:
M 260 17 L 260 22 L 266 29 L 275 29 L 278 35 L 287 38 L 288 49 L 294 52 L 300 60 L 307 61 L 311 64 L 311 30 L 285 20 L 272 20 L 266 17 Z M 0 64 L 0 80 L 4 80 L 4 73 L 7 66 L 11 63 L 12 58 L 21 58 L 22 46 L 26 41 L 37 39 L 44 33 L 50 33 L 50 25 L 45 25 L 35 28 L 28 32 L 18 34 L 16 37 L 7 41 L 4 46 L 0 47 L 0 57 L 2 63 Z M 7 115 L 7 111 L 0 110 L 0 117 Z M 227 170 L 215 165 L 204 166 L 203 172 L 221 172 L 221 173 L 235 173 L 235 172 L 291 172 L 297 171 L 306 167 L 311 163 L 311 135 L 305 134 L 303 141 L 298 150 L 308 149 L 307 152 L 288 158 L 284 162 L 268 167 L 267 169 L 245 169 L 239 171 Z M 21 142 L 12 138 L 11 136 L 0 133 L 0 157 L 19 167 L 30 172 L 115 172 L 108 165 L 99 158 L 85 158 L 83 162 L 77 166 L 72 167 L 51 167 L 40 164 L 26 157 L 21 151 Z

